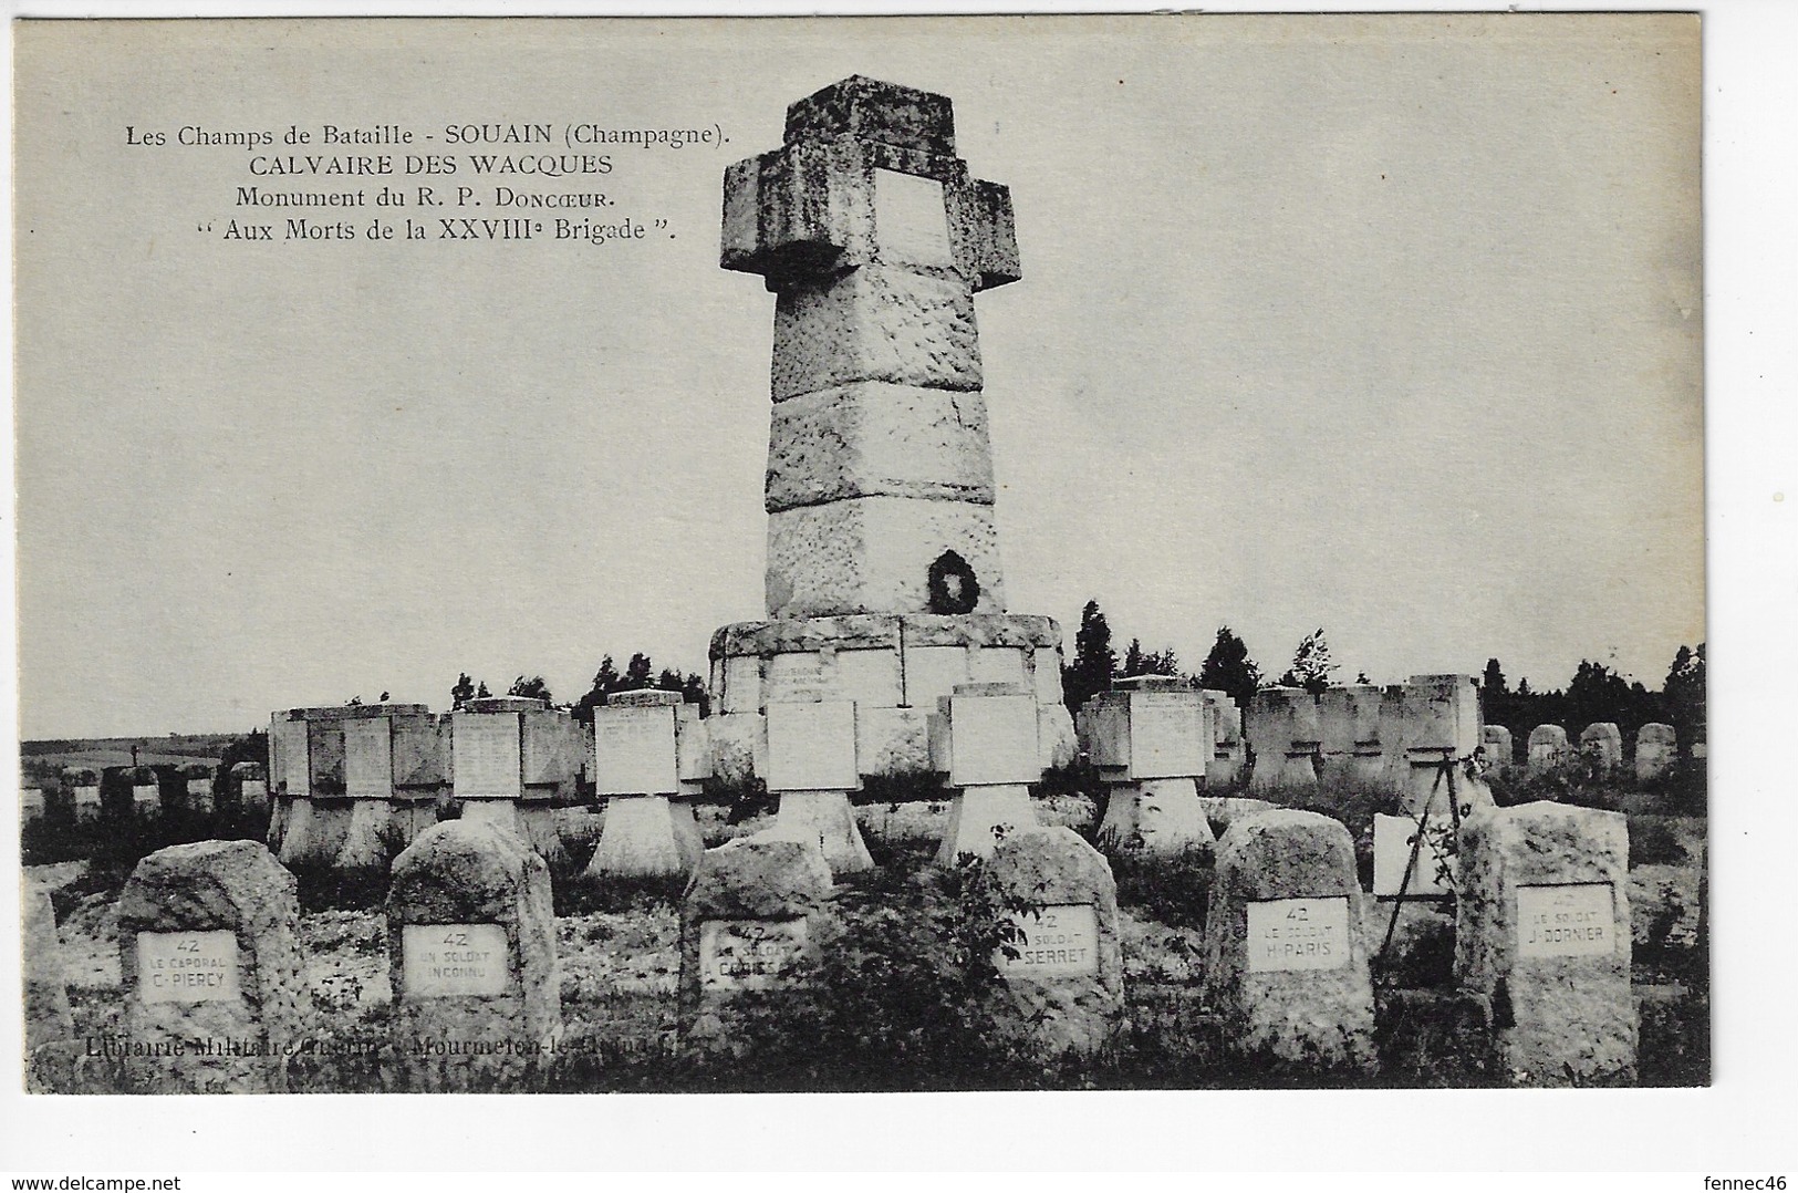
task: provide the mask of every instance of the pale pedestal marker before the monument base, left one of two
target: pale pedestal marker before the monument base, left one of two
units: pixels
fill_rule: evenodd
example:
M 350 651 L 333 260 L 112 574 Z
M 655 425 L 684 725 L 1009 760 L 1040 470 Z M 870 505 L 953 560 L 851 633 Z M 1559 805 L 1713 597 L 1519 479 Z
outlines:
M 849 808 L 861 790 L 852 702 L 768 705 L 768 790 L 780 797 L 773 833 L 816 840 L 836 875 L 874 866 Z

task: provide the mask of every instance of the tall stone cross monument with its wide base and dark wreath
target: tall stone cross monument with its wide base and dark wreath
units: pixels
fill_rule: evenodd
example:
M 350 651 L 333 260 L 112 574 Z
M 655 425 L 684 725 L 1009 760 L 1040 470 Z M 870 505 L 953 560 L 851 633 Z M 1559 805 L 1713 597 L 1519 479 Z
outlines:
M 1072 756 L 1061 630 L 1005 612 L 975 295 L 1021 277 L 1010 191 L 955 155 L 946 95 L 849 77 L 725 175 L 721 265 L 775 293 L 770 621 L 712 639 L 717 774 L 768 704 L 852 700 L 863 774 L 924 768 L 957 684 L 1037 695 Z

